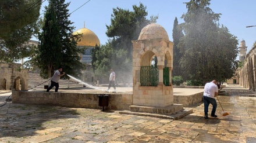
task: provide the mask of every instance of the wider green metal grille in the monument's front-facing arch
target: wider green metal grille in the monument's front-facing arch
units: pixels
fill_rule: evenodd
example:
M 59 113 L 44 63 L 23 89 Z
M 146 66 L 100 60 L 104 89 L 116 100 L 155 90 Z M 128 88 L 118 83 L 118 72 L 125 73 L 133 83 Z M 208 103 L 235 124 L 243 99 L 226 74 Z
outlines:
M 141 86 L 158 86 L 159 71 L 153 66 L 141 66 L 140 68 L 140 85 Z

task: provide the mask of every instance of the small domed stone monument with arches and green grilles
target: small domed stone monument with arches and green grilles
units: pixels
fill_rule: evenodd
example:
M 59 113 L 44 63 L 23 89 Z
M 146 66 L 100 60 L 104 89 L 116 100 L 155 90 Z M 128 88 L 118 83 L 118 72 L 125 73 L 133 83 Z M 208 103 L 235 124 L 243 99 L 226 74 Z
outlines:
M 133 43 L 133 105 L 130 111 L 170 115 L 173 104 L 173 42 L 161 25 L 148 24 Z

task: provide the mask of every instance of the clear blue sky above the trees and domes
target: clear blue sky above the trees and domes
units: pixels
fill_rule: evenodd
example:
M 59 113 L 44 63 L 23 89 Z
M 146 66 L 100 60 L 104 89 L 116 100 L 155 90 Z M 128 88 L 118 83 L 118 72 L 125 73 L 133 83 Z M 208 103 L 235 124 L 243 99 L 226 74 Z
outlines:
M 70 2 L 71 0 L 66 0 Z M 69 5 L 70 13 L 86 3 L 88 0 L 73 0 Z M 133 5 L 147 6 L 148 19 L 152 15 L 158 15 L 157 24 L 162 25 L 168 32 L 169 39 L 172 41 L 173 21 L 177 17 L 179 23 L 183 13 L 187 12 L 186 4 L 189 0 L 91 0 L 71 14 L 69 19 L 74 22 L 76 30 L 84 27 L 93 31 L 99 38 L 101 44 L 108 41 L 106 36 L 106 25 L 111 24 L 111 14 L 113 8 L 133 10 Z M 42 6 L 48 5 L 45 1 Z M 255 0 L 212 0 L 209 8 L 215 13 L 221 13 L 220 24 L 226 26 L 230 33 L 237 36 L 239 44 L 241 40 L 246 41 L 247 52 L 256 41 L 256 27 L 246 28 L 248 25 L 256 25 L 256 1 Z M 43 13 L 44 8 L 41 9 Z M 240 45 L 237 45 L 238 47 Z

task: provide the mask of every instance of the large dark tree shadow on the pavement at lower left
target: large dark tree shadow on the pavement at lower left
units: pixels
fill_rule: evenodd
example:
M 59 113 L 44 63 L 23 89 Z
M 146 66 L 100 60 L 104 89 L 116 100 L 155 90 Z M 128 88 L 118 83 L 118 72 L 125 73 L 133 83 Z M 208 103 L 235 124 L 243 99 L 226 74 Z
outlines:
M 48 131 L 45 128 L 49 129 L 49 123 L 61 122 L 65 119 L 75 120 L 81 114 L 74 108 L 10 102 L 1 107 L 0 112 L 0 138 L 26 138 L 41 133 L 47 134 Z M 69 125 L 63 124 L 63 127 L 65 126 Z

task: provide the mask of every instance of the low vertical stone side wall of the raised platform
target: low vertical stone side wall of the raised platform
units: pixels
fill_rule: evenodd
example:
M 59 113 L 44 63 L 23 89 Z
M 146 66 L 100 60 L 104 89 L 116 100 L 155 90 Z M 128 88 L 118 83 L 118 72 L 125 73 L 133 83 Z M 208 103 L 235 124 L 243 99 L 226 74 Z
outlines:
M 202 92 L 189 96 L 173 96 L 175 104 L 183 104 L 184 107 L 202 101 Z M 12 102 L 21 104 L 55 105 L 61 107 L 93 108 L 98 106 L 98 94 L 86 93 L 55 93 L 12 91 Z M 109 105 L 106 109 L 129 110 L 133 104 L 133 94 L 110 94 Z

